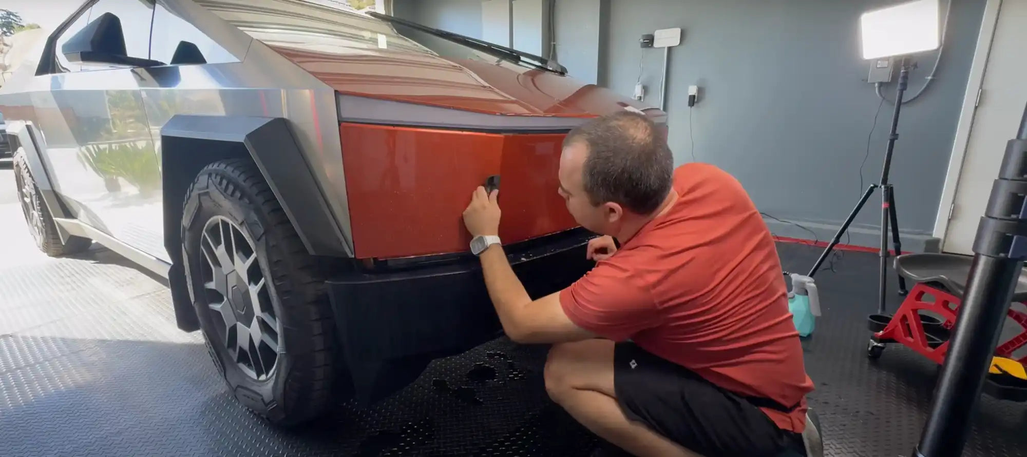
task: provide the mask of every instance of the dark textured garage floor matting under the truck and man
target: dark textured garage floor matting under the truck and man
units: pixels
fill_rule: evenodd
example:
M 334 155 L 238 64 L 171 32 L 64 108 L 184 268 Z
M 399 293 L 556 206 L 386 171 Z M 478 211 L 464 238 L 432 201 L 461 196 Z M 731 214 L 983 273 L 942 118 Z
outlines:
M 339 405 L 309 428 L 276 430 L 225 393 L 197 335 L 175 328 L 160 282 L 105 250 L 36 255 L 20 217 L 0 205 L 13 250 L 0 258 L 2 456 L 576 456 L 595 443 L 547 401 L 545 348 L 502 339 L 432 364 L 374 408 Z M 779 249 L 795 271 L 816 254 Z M 900 347 L 865 356 L 875 264 L 846 253 L 819 277 L 826 317 L 806 360 L 832 456 L 908 455 L 930 400 L 930 363 Z M 966 455 L 1027 454 L 1025 416 L 986 399 Z

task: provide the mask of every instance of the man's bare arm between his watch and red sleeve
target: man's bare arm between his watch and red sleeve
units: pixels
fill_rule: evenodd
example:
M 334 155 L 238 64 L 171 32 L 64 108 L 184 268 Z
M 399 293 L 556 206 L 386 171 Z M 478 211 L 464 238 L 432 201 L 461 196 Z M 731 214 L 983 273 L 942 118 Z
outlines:
M 502 246 L 489 246 L 481 260 L 489 297 L 510 339 L 519 343 L 557 343 L 596 337 L 567 318 L 559 292 L 532 300 L 514 274 Z

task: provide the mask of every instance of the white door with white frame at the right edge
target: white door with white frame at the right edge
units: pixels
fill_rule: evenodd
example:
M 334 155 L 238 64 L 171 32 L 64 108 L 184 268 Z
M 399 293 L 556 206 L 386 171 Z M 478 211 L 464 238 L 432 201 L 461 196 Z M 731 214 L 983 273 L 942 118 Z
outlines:
M 1027 106 L 1024 43 L 1027 43 L 1027 1 L 1005 0 L 995 25 L 981 101 L 974 115 L 955 206 L 945 232 L 946 252 L 973 254 L 977 225 L 984 215 L 991 183 L 998 176 L 1005 143 L 1016 136 Z

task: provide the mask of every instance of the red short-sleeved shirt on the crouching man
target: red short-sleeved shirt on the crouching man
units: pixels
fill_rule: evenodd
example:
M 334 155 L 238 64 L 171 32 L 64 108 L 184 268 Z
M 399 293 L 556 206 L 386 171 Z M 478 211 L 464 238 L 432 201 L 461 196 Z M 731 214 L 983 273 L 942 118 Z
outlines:
M 674 189 L 673 207 L 561 291 L 564 311 L 727 390 L 800 403 L 791 414 L 763 411 L 801 432 L 813 383 L 769 230 L 741 184 L 715 166 L 678 167 Z

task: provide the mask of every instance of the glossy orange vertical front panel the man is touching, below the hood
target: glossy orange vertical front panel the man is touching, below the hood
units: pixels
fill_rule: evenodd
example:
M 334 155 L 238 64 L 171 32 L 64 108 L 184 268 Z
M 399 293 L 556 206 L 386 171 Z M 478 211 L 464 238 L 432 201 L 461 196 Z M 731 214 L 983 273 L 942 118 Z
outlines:
M 576 225 L 557 193 L 563 134 L 351 123 L 341 124 L 340 134 L 357 257 L 467 251 L 461 213 L 474 188 L 494 174 L 504 243 Z

